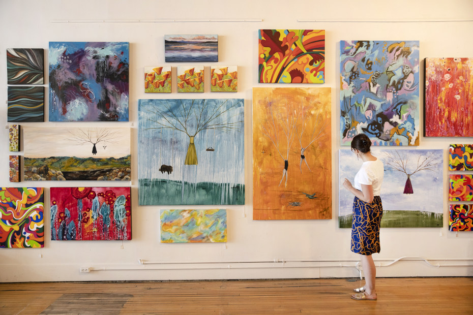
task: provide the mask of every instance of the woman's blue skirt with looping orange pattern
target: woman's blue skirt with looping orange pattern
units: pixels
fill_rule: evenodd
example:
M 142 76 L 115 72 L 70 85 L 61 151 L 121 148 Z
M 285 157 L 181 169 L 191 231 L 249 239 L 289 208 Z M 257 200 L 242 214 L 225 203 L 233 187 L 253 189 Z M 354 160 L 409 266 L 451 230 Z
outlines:
M 379 226 L 382 217 L 382 204 L 379 196 L 372 203 L 358 197 L 353 199 L 353 222 L 351 224 L 351 251 L 361 255 L 379 253 Z

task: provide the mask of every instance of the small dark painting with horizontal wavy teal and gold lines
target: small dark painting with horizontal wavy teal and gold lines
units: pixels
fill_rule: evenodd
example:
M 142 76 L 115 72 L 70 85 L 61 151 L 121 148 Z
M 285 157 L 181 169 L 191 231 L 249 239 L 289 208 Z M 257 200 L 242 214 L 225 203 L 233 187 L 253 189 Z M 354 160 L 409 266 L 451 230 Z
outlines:
M 44 121 L 44 87 L 9 86 L 7 120 Z

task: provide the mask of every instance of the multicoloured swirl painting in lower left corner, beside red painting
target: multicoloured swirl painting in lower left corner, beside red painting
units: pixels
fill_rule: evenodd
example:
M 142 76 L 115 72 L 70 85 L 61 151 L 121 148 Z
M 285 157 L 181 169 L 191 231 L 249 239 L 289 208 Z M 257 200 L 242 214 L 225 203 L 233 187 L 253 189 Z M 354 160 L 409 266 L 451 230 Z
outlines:
M 0 247 L 44 247 L 44 188 L 0 188 Z

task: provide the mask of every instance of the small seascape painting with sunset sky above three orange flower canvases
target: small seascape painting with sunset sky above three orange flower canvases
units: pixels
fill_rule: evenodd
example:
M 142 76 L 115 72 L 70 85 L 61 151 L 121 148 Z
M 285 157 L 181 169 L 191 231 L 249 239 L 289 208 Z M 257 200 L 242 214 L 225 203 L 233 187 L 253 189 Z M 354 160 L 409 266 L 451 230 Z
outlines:
M 166 62 L 217 62 L 218 35 L 165 35 Z

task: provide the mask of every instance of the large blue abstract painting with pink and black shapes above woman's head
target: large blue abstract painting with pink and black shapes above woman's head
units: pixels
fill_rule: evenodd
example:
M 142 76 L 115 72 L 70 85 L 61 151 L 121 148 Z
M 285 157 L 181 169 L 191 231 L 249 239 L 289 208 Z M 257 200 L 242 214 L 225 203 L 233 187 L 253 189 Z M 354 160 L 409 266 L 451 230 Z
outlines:
M 419 145 L 419 41 L 341 41 L 340 82 L 342 145 Z

